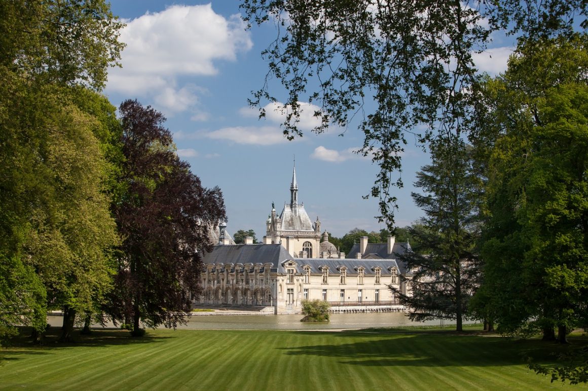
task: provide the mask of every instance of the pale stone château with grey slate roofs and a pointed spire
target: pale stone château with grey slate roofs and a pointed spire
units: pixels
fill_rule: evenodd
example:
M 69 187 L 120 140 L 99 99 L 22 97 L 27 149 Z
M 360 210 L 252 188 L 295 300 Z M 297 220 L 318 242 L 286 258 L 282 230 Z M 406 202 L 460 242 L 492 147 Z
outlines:
M 323 234 L 320 221 L 311 223 L 303 204 L 298 204 L 296 168 L 290 186 L 290 204 L 268 218 L 263 244 L 229 244 L 222 241 L 226 225 L 219 229 L 219 245 L 205 254 L 201 276 L 203 295 L 198 304 L 264 306 L 275 314 L 299 313 L 303 299 L 328 301 L 332 311 L 400 311 L 402 306 L 388 288 L 406 293 L 400 275 L 410 276 L 397 255 L 410 249 L 406 243 L 368 243 L 362 237 L 348 258 Z M 410 294 L 410 292 L 408 292 Z

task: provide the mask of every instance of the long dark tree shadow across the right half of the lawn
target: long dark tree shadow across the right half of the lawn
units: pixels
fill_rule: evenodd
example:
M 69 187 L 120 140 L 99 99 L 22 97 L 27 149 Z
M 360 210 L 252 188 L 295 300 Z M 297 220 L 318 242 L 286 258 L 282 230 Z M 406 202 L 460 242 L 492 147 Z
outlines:
M 299 333 L 308 335 L 309 345 L 279 349 L 286 355 L 335 357 L 341 364 L 360 366 L 511 366 L 529 358 L 550 364 L 554 351 L 566 349 L 538 340 L 439 332 L 332 332 L 333 343 L 312 345 L 313 332 Z M 353 342 L 342 342 L 348 337 Z

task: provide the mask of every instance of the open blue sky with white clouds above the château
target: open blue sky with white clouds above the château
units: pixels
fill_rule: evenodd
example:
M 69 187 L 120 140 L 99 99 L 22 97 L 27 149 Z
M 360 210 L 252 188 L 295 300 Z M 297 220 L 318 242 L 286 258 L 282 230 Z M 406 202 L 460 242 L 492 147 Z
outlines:
M 353 228 L 379 231 L 374 218 L 377 200 L 363 200 L 377 166 L 352 151 L 363 136 L 350 127 L 301 139 L 285 140 L 281 114 L 268 110 L 259 120 L 247 99 L 259 89 L 267 72 L 260 52 L 275 38 L 271 23 L 246 31 L 239 18 L 239 1 L 171 2 L 113 0 L 112 12 L 127 23 L 122 69 L 109 72 L 105 90 L 111 103 L 138 99 L 167 117 L 178 154 L 191 164 L 203 186 L 219 186 L 225 197 L 229 232 L 253 229 L 265 235 L 272 202 L 278 213 L 290 197 L 293 157 L 296 156 L 299 201 L 311 220 L 341 237 Z M 506 69 L 509 43 L 495 39 L 493 49 L 477 55 L 477 65 L 491 75 Z M 490 58 L 492 55 L 492 58 Z M 279 86 L 272 86 L 280 97 Z M 312 110 L 303 122 L 312 126 Z M 410 191 L 415 172 L 427 164 L 426 154 L 409 144 L 403 154 L 405 188 L 396 225 L 420 217 Z

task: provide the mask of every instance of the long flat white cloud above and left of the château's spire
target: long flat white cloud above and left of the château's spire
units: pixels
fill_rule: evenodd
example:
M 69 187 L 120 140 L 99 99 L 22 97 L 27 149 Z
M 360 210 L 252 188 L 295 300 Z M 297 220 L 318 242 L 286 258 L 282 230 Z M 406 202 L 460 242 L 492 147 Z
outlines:
M 274 126 L 235 126 L 203 133 L 204 137 L 215 140 L 229 140 L 238 144 L 272 145 L 288 140 L 282 131 Z

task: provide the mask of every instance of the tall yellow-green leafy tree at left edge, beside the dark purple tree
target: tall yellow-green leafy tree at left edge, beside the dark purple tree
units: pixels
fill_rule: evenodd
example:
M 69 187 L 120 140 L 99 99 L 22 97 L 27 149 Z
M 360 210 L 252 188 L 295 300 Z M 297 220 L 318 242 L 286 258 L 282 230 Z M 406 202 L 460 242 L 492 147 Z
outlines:
M 46 308 L 73 319 L 68 309 L 108 289 L 106 143 L 71 87 L 104 85 L 121 27 L 102 0 L 0 4 L 0 267 L 11 270 L 0 295 L 20 311 L 2 312 L 3 325 L 19 319 L 40 333 Z

